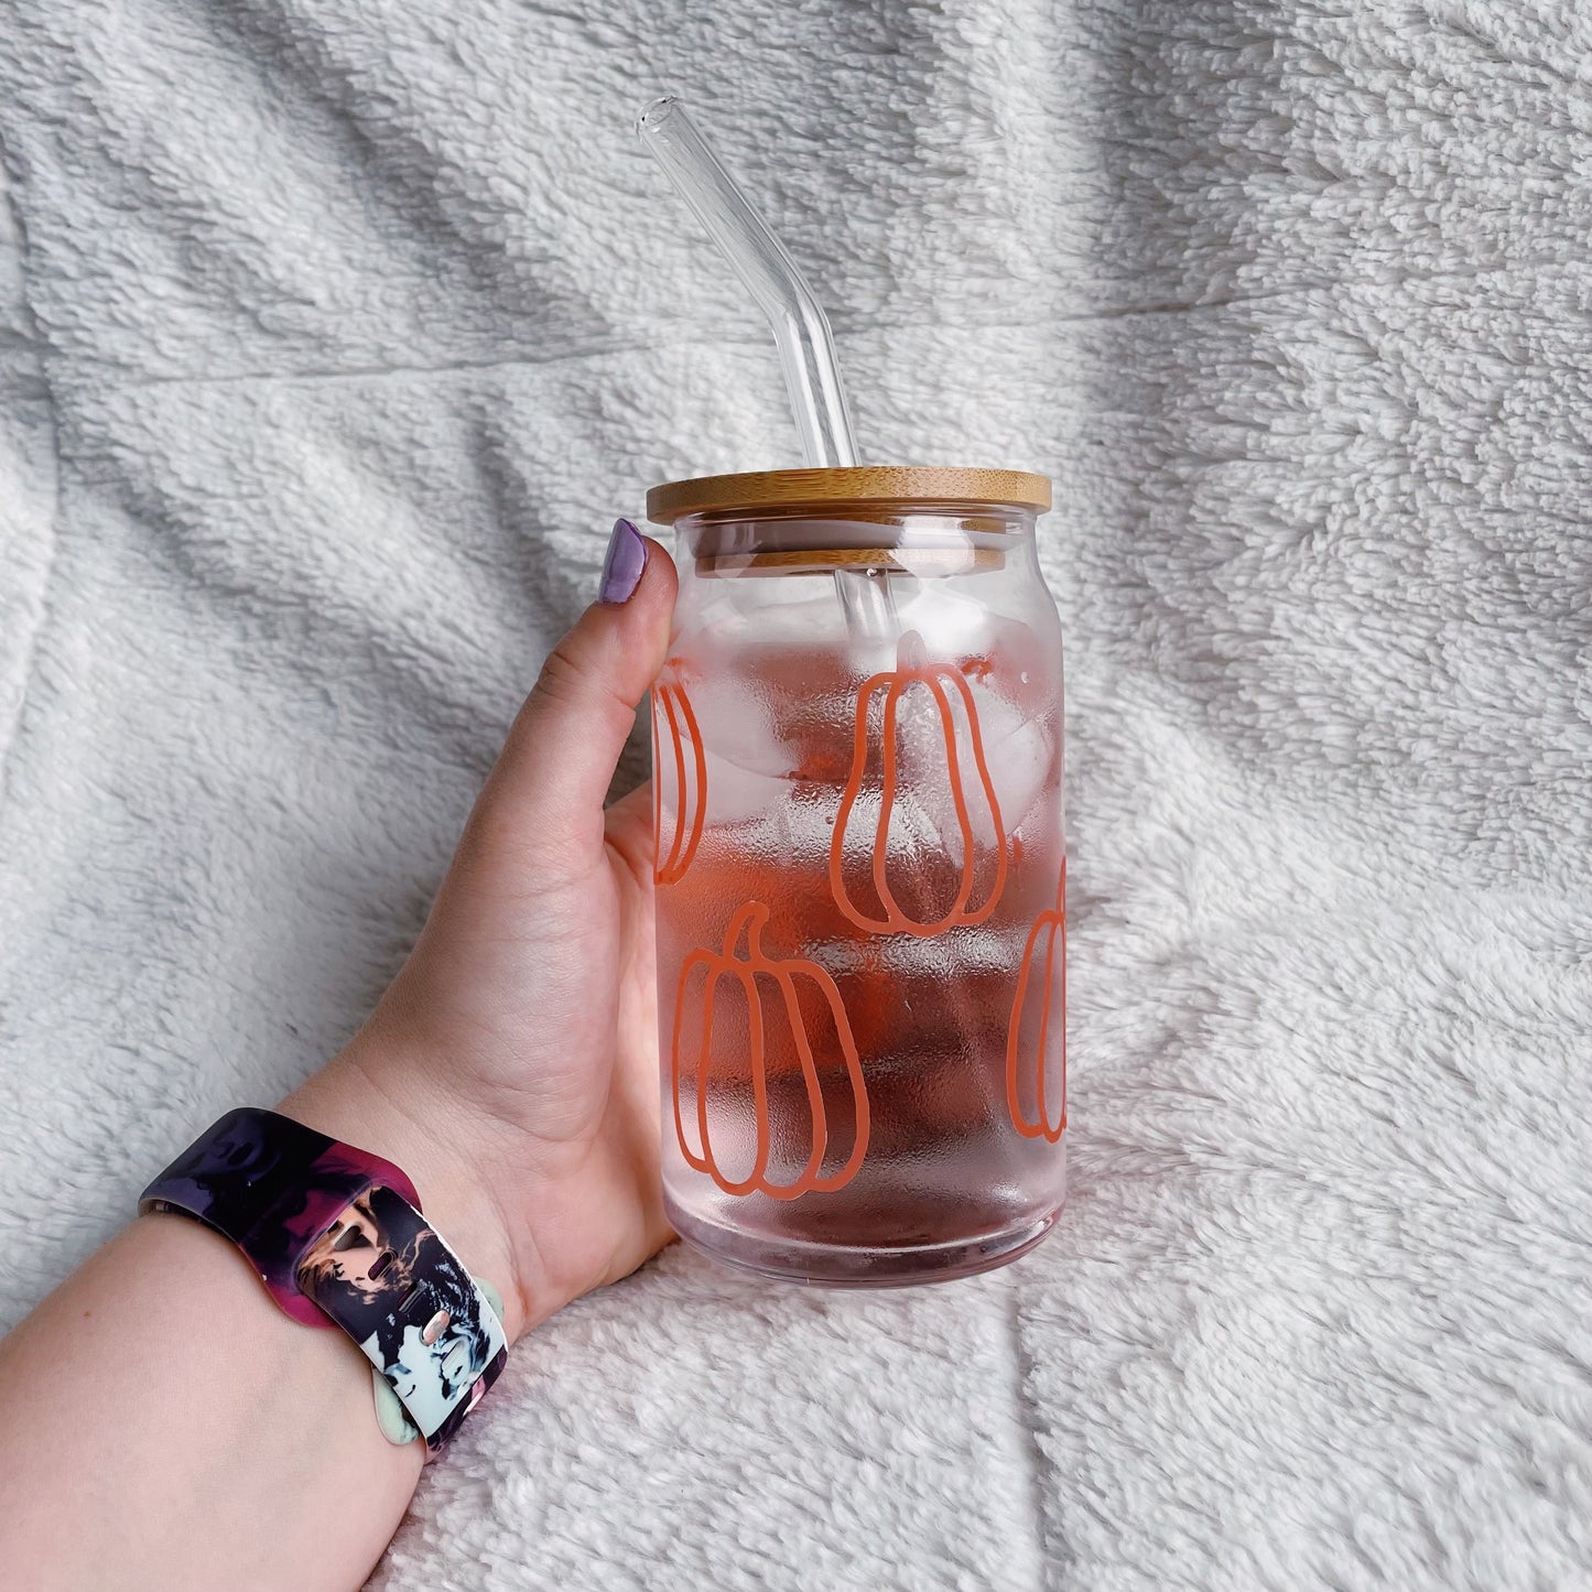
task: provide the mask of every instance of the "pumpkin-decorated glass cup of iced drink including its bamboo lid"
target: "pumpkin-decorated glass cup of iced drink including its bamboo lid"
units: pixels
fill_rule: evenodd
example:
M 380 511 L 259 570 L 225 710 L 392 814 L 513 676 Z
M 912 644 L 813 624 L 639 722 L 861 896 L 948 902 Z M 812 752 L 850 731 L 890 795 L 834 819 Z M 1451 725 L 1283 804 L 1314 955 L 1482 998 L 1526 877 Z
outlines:
M 1065 1197 L 1062 637 L 1043 476 L 657 487 L 664 1204 L 798 1282 L 1005 1264 Z

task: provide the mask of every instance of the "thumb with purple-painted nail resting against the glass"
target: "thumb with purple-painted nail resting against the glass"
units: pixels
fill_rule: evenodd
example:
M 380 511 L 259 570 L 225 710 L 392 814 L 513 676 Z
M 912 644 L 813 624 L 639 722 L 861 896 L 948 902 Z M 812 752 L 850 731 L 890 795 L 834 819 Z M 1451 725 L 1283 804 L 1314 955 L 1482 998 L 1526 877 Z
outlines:
M 669 554 L 615 521 L 597 600 L 548 654 L 478 804 L 533 866 L 570 876 L 602 856 L 603 798 L 664 667 L 677 591 Z

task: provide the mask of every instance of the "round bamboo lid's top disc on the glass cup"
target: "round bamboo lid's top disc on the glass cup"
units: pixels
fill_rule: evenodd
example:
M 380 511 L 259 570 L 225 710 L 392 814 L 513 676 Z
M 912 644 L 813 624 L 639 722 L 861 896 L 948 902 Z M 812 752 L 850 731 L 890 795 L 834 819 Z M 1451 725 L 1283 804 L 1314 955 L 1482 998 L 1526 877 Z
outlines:
M 938 465 L 855 465 L 850 470 L 758 470 L 743 476 L 670 481 L 646 494 L 646 517 L 672 525 L 686 514 L 812 508 L 839 503 L 942 503 L 947 508 L 1009 506 L 1043 514 L 1051 506 L 1048 476 L 1024 470 L 957 470 Z

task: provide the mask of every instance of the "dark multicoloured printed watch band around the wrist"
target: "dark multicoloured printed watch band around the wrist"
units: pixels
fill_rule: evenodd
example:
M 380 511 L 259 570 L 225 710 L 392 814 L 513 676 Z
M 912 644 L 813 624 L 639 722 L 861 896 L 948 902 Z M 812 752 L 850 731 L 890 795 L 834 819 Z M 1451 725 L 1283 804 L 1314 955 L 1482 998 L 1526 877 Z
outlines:
M 339 1326 L 435 1455 L 498 1379 L 503 1323 L 392 1162 L 275 1111 L 228 1111 L 142 1194 L 231 1239 L 277 1304 Z

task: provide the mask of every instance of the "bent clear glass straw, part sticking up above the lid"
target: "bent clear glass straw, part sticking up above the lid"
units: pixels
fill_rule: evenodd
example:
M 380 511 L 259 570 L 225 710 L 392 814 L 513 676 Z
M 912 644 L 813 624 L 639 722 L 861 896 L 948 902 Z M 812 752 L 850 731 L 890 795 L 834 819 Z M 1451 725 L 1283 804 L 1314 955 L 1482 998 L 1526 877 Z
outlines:
M 856 463 L 829 320 L 801 267 L 747 202 L 677 99 L 653 100 L 635 131 L 774 328 L 804 462 Z

